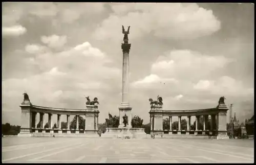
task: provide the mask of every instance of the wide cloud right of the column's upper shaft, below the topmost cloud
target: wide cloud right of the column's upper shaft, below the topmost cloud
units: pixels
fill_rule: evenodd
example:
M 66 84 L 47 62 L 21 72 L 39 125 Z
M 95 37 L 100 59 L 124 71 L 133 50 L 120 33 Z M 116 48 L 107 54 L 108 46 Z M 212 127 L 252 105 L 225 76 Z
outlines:
M 174 50 L 159 56 L 152 64 L 153 74 L 162 77 L 195 78 L 209 75 L 224 68 L 232 59 L 224 56 L 209 56 L 191 50 Z

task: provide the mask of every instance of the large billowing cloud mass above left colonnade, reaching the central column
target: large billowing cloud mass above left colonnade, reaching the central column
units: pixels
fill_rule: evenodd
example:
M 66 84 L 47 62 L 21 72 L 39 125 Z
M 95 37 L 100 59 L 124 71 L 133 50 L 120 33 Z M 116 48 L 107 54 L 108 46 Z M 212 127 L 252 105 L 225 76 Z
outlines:
M 101 50 L 89 42 L 84 42 L 58 53 L 38 53 L 38 45 L 31 45 L 26 46 L 27 50 L 37 54 L 27 57 L 27 60 L 20 61 L 19 64 L 25 65 L 23 62 L 27 61 L 27 67 L 20 68 L 22 73 L 35 70 L 36 72 L 33 75 L 25 75 L 24 78 L 9 78 L 2 81 L 5 112 L 10 109 L 20 112 L 20 109 L 15 107 L 22 102 L 24 91 L 28 93 L 32 104 L 48 107 L 83 109 L 83 95 L 98 97 L 103 105 L 115 102 L 110 101 L 107 96 L 111 92 L 121 90 L 121 70 L 106 65 L 111 59 Z M 99 58 L 102 54 L 104 57 Z M 115 104 L 117 103 L 113 105 Z

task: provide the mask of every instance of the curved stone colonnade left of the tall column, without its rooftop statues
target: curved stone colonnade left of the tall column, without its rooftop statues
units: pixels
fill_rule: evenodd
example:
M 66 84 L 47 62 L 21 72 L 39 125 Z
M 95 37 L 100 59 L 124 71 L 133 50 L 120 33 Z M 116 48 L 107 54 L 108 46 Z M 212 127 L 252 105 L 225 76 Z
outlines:
M 98 106 L 87 105 L 87 109 L 60 109 L 49 108 L 32 105 L 30 102 L 21 104 L 22 108 L 22 125 L 20 127 L 19 135 L 29 134 L 33 136 L 34 133 L 98 133 Z M 39 119 L 37 114 L 39 113 Z M 45 126 L 45 115 L 48 114 L 48 125 Z M 53 128 L 53 115 L 57 115 L 57 128 Z M 70 115 L 76 117 L 76 128 L 70 129 Z M 61 128 L 61 117 L 65 116 L 67 121 L 67 128 Z M 79 116 L 84 116 L 85 124 L 83 129 L 79 129 Z M 37 128 L 37 123 L 40 123 L 40 127 Z M 80 126 L 81 127 L 81 126 Z

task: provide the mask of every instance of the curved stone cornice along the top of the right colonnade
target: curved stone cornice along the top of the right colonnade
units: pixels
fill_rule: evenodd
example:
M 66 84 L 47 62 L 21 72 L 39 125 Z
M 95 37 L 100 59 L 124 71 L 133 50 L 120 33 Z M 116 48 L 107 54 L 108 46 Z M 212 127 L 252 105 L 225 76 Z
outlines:
M 167 115 L 167 116 L 197 116 L 197 115 L 215 115 L 220 112 L 226 113 L 227 106 L 207 109 L 192 109 L 192 110 L 163 110 L 161 107 L 151 107 L 151 115 Z

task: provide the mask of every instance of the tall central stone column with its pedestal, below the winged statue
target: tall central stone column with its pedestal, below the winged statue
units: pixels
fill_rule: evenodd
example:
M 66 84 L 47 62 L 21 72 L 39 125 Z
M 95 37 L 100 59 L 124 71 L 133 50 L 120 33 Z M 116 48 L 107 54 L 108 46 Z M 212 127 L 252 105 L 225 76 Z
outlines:
M 132 117 L 132 107 L 129 104 L 129 52 L 131 49 L 131 43 L 128 43 L 128 38 L 124 38 L 124 43 L 122 43 L 123 52 L 123 67 L 122 67 L 122 103 L 119 107 L 119 128 L 124 127 L 123 116 L 126 114 L 128 116 L 128 123 L 126 127 L 131 128 L 131 117 Z

